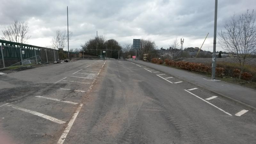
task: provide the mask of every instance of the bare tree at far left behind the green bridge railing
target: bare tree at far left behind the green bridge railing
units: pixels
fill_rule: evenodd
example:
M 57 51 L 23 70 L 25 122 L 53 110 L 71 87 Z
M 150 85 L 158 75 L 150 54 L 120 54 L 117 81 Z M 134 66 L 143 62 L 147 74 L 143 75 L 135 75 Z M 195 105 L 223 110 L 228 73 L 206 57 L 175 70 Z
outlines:
M 15 20 L 14 23 L 2 29 L 3 36 L 1 38 L 7 41 L 25 44 L 31 37 L 28 36 L 28 31 L 28 22 Z

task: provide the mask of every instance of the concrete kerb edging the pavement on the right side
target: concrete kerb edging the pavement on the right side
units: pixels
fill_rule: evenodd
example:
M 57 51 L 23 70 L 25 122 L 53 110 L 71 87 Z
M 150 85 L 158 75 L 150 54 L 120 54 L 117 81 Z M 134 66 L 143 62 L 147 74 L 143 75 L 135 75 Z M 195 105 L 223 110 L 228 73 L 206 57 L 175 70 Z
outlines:
M 137 63 L 137 62 L 135 61 L 134 63 Z M 137 63 L 137 64 L 139 64 L 139 63 Z M 152 67 L 149 67 L 149 66 L 147 66 L 147 67 L 148 67 L 148 68 L 152 68 Z M 153 68 L 153 69 L 156 69 L 156 70 L 158 70 L 158 71 L 161 71 L 161 70 L 159 70 L 159 69 L 157 69 L 157 68 Z M 163 72 L 163 71 L 161 71 L 161 72 Z M 163 72 L 163 73 L 165 73 L 165 72 Z M 172 75 L 172 76 L 174 76 L 174 75 Z M 222 97 L 222 98 L 224 98 L 224 99 L 226 99 L 226 100 L 229 100 L 229 101 L 231 101 L 231 102 L 233 102 L 233 103 L 235 103 L 235 104 L 237 104 L 237 105 L 239 105 L 239 106 L 242 106 L 242 107 L 244 107 L 244 108 L 247 108 L 248 110 L 251 110 L 251 111 L 253 111 L 253 112 L 256 112 L 256 108 L 253 107 L 253 106 L 251 106 L 251 105 L 249 105 L 249 104 L 246 104 L 246 103 L 244 103 L 244 102 L 242 102 L 242 101 L 233 99 L 233 98 L 231 98 L 231 97 L 229 97 L 229 96 L 226 96 L 226 95 L 224 95 L 224 94 L 221 94 L 221 93 L 219 93 L 219 92 L 214 92 L 214 91 L 208 90 L 208 89 L 206 89 L 205 87 L 202 87 L 201 85 L 198 85 L 198 84 L 189 82 L 189 81 L 183 79 L 183 78 L 180 77 L 180 76 L 175 76 L 175 77 L 181 79 L 182 81 L 188 82 L 188 83 L 190 83 L 190 84 L 194 84 L 194 85 L 200 87 L 201 89 L 203 89 L 203 90 L 205 90 L 205 91 L 208 91 L 208 92 L 214 93 L 214 94 L 216 94 L 216 95 L 219 95 L 220 97 Z

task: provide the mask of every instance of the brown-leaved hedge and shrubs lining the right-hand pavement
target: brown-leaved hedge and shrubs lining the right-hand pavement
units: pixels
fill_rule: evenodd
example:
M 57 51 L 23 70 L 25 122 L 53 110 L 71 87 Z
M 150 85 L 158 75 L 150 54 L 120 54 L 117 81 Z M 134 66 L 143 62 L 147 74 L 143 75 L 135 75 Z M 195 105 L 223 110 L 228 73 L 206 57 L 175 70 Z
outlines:
M 153 58 L 151 62 L 164 66 L 185 69 L 192 72 L 205 74 L 207 76 L 211 76 L 212 74 L 212 67 L 210 63 L 202 64 L 186 61 L 172 61 L 169 59 L 165 59 L 163 61 L 158 58 Z M 216 76 L 218 78 L 226 82 L 240 84 L 256 89 L 256 65 L 244 65 L 244 72 L 241 74 L 241 79 L 239 79 L 240 73 L 240 65 L 237 63 L 217 62 Z

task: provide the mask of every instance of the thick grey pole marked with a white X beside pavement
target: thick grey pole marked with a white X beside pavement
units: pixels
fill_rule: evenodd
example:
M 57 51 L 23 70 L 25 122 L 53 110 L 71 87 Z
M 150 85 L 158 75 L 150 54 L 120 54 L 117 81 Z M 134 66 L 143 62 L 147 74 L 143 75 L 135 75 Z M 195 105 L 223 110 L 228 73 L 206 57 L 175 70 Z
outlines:
M 215 79 L 215 68 L 216 68 L 217 7 L 218 7 L 218 0 L 215 0 L 213 53 L 212 53 L 212 80 Z

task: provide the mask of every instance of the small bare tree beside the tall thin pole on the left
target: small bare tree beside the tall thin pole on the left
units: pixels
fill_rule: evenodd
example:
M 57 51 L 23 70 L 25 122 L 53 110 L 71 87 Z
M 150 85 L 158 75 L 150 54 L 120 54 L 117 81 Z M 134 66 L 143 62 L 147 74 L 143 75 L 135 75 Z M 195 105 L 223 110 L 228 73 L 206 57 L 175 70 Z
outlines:
M 67 32 L 66 29 L 64 30 L 56 30 L 56 36 L 54 36 L 52 38 L 52 47 L 54 49 L 64 49 L 64 47 L 66 46 L 67 42 L 68 42 L 68 36 L 69 39 L 72 37 L 72 32 L 69 31 L 69 34 Z

